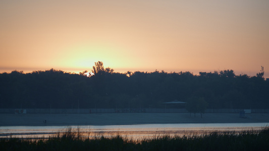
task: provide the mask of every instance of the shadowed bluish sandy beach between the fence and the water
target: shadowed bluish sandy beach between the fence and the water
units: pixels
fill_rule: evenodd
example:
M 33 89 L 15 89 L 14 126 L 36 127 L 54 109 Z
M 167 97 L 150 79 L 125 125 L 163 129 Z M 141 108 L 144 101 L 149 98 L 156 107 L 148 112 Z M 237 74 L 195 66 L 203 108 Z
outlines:
M 0 114 L 0 126 L 122 125 L 158 123 L 258 123 L 269 122 L 268 113 L 103 113 L 103 114 Z M 46 120 L 46 122 L 44 122 Z

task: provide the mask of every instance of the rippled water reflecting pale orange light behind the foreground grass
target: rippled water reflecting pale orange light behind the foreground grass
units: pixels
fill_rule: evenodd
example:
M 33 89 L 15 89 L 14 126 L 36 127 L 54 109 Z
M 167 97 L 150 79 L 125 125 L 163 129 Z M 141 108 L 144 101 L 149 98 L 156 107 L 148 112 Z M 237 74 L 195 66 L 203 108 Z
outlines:
M 88 125 L 88 126 L 0 126 L 0 137 L 47 138 L 64 132 L 67 128 L 85 136 L 122 135 L 128 138 L 143 138 L 159 135 L 204 134 L 213 131 L 260 130 L 269 123 L 203 123 L 203 124 L 136 124 L 136 125 Z

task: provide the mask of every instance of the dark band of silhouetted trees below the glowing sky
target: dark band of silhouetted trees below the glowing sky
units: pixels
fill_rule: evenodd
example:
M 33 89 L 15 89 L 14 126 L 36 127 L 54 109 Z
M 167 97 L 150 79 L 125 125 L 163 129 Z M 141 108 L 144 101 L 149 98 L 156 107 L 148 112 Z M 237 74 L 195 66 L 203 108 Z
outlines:
M 86 71 L 85 71 L 86 72 Z M 0 108 L 163 108 L 200 98 L 209 108 L 269 109 L 269 82 L 233 70 L 118 73 L 96 62 L 87 77 L 62 70 L 0 74 Z

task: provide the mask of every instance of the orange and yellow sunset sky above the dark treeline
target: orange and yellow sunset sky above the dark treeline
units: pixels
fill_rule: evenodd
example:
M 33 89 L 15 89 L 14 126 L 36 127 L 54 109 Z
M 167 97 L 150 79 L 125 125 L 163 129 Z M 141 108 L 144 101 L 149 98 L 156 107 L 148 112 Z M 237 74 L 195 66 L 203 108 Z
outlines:
M 232 69 L 269 78 L 269 1 L 0 1 L 0 72 Z

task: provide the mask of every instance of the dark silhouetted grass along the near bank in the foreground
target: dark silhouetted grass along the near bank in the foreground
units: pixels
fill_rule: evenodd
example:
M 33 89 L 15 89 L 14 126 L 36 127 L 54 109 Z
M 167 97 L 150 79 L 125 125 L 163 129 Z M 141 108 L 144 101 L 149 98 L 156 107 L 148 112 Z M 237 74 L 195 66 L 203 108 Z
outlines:
M 0 150 L 269 150 L 269 128 L 204 135 L 155 136 L 142 140 L 120 135 L 82 137 L 71 128 L 48 139 L 0 139 Z

